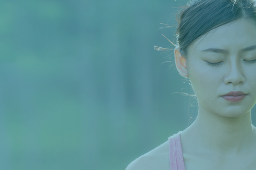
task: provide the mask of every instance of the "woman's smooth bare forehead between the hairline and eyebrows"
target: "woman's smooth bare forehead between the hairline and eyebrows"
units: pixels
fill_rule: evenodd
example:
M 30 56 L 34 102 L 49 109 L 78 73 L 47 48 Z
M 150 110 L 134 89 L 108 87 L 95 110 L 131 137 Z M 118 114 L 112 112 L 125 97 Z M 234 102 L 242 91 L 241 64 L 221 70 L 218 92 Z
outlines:
M 237 53 L 243 48 L 256 45 L 256 25 L 239 19 L 201 36 L 188 48 L 188 55 L 208 48 L 225 49 Z

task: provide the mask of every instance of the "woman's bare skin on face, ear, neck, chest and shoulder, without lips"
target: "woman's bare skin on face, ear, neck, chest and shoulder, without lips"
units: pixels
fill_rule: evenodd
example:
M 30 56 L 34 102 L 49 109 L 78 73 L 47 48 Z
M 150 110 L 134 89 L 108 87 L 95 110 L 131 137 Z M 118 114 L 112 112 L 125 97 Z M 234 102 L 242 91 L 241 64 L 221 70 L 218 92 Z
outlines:
M 176 68 L 189 78 L 198 98 L 198 116 L 181 133 L 186 170 L 256 169 L 256 25 L 240 19 L 200 37 L 183 57 L 174 50 Z M 250 50 L 242 50 L 248 49 Z M 205 52 L 205 49 L 221 49 Z M 221 52 L 220 52 L 221 51 Z M 209 63 L 219 63 L 211 66 Z M 243 91 L 239 102 L 222 98 Z M 127 170 L 170 170 L 168 141 L 134 160 Z

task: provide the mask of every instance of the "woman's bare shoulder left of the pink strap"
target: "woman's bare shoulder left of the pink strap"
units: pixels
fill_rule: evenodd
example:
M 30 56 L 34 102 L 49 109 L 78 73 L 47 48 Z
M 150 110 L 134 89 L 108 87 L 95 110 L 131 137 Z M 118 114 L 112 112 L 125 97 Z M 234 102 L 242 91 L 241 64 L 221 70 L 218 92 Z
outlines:
M 168 141 L 133 160 L 126 170 L 170 170 Z

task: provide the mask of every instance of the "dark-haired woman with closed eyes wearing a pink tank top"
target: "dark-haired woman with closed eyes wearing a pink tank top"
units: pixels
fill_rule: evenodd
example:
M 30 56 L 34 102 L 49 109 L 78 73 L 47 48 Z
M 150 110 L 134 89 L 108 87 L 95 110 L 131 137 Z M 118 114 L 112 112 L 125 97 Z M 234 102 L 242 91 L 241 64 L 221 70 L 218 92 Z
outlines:
M 255 1 L 194 0 L 178 24 L 175 64 L 191 81 L 198 116 L 126 170 L 255 170 Z

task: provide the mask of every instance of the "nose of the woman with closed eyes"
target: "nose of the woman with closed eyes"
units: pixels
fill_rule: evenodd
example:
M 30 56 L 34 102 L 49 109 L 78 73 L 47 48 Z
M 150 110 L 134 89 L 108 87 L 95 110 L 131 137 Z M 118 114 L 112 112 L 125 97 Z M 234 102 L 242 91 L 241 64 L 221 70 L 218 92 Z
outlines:
M 227 68 L 227 73 L 225 75 L 225 84 L 233 84 L 234 86 L 238 84 L 243 84 L 245 78 L 243 76 L 242 67 L 238 62 L 233 62 Z

